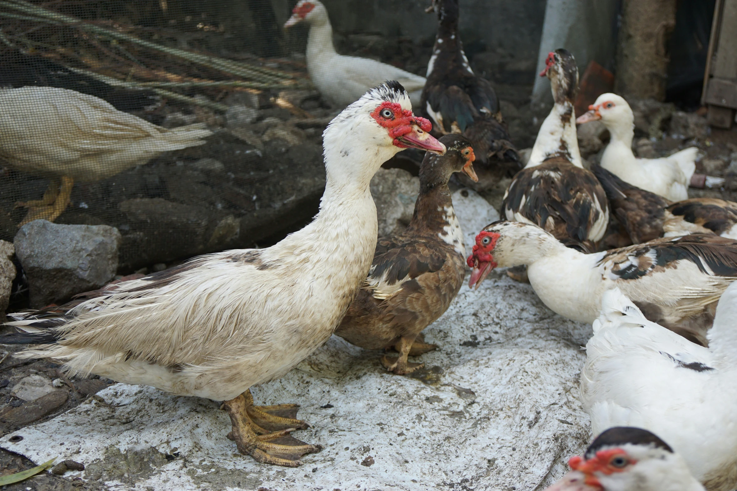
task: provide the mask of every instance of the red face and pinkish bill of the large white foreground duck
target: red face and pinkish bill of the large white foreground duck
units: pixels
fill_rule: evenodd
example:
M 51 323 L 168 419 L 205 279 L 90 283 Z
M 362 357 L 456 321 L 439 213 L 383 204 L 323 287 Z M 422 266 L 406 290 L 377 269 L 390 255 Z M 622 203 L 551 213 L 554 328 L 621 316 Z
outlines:
M 371 117 L 388 130 L 394 145 L 399 148 L 416 148 L 439 155 L 445 153 L 445 145 L 430 135 L 433 124 L 415 116 L 411 110 L 402 109 L 398 102 L 383 102 L 374 109 Z

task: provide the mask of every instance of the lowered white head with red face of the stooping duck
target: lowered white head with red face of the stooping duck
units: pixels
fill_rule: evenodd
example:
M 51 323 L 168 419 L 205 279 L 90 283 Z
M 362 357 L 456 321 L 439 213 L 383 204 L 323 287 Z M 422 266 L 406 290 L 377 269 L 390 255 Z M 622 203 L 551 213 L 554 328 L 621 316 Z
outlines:
M 565 248 L 537 225 L 507 220 L 486 225 L 476 236 L 476 244 L 466 260 L 472 269 L 469 288 L 475 285 L 478 289 L 497 266 L 520 266 L 542 257 L 546 244 Z

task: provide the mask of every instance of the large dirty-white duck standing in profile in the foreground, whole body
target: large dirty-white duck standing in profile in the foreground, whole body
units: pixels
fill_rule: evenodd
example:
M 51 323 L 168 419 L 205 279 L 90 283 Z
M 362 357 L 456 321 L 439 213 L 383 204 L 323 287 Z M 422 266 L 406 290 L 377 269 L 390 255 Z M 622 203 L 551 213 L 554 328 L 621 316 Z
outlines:
M 36 345 L 17 356 L 55 360 L 70 375 L 223 401 L 240 453 L 297 467 L 318 445 L 272 440 L 307 423 L 272 414 L 293 404 L 256 406 L 250 387 L 287 373 L 338 327 L 377 243 L 368 183 L 402 149 L 444 152 L 430 129 L 402 85 L 385 82 L 326 127 L 325 192 L 309 225 L 272 247 L 201 255 L 114 290 L 13 314 L 8 325 L 20 332 L 2 342 Z

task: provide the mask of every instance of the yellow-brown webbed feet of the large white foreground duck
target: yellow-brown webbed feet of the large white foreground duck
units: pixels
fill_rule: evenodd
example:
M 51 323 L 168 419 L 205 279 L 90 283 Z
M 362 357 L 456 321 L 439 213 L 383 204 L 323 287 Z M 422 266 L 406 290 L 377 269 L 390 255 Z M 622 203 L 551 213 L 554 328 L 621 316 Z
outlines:
M 255 406 L 249 389 L 237 398 L 226 400 L 223 405 L 233 425 L 228 438 L 235 441 L 240 453 L 252 456 L 256 462 L 298 467 L 302 463 L 300 458 L 305 453 L 322 450 L 320 445 L 308 445 L 290 436 L 298 428 L 309 428 L 307 423 L 278 415 L 296 415 L 296 404 Z M 279 442 L 274 442 L 275 440 Z

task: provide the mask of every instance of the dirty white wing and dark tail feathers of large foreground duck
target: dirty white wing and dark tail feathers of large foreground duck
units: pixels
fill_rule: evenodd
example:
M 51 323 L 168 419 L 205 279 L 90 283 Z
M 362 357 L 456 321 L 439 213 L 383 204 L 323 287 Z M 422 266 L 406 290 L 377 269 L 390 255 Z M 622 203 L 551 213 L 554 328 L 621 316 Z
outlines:
M 259 350 L 262 333 L 269 329 L 265 317 L 287 322 L 283 306 L 269 300 L 284 290 L 276 270 L 279 264 L 262 258 L 262 250 L 199 256 L 118 283 L 114 291 L 89 292 L 61 307 L 16 314 L 9 325 L 25 333 L 4 342 L 29 342 L 13 336 L 35 334 L 43 346 L 24 356 L 62 359 L 72 373 L 130 358 L 162 367 L 226 363 L 238 353 Z M 237 280 L 223 281 L 228 274 Z M 223 300 L 202 308 L 212 298 Z

